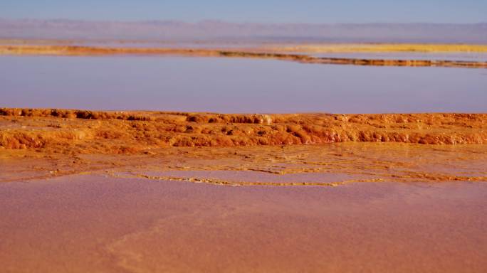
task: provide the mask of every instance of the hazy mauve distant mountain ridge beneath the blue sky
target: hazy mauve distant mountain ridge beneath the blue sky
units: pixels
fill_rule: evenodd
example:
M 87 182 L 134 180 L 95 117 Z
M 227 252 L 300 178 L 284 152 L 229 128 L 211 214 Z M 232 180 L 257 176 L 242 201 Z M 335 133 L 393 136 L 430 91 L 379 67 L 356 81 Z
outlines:
M 0 38 L 485 44 L 487 23 L 187 23 L 0 18 Z

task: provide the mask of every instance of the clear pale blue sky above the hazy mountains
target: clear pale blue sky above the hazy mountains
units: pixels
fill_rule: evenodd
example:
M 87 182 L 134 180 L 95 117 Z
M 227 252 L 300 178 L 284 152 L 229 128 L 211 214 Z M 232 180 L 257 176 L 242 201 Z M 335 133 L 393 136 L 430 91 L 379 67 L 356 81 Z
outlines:
M 478 23 L 487 0 L 0 0 L 0 18 Z

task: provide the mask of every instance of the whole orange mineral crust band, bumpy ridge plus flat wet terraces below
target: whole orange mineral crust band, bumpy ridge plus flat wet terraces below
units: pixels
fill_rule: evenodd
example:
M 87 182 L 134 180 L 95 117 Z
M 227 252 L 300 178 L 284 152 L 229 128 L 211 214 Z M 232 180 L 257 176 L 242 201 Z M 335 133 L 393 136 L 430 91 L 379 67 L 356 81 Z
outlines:
M 0 109 L 0 114 L 0 164 L 6 170 L 0 172 L 0 181 L 93 171 L 230 186 L 487 181 L 487 114 L 61 109 Z M 299 177 L 258 181 L 230 179 L 229 173 L 167 171 L 256 171 L 280 179 Z M 324 176 L 300 176 L 303 173 Z

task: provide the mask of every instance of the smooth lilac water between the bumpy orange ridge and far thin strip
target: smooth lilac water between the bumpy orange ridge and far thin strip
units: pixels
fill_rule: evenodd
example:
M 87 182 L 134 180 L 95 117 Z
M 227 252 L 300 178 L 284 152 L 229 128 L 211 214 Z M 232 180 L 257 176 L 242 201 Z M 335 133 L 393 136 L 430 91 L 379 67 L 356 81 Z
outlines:
M 0 107 L 487 112 L 481 69 L 183 57 L 0 57 Z

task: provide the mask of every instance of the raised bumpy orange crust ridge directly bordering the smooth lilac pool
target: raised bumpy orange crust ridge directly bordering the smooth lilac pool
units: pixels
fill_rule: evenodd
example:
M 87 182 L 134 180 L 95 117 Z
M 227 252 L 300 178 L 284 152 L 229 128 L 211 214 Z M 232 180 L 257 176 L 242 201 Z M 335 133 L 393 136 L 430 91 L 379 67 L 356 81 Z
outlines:
M 167 146 L 487 144 L 487 114 L 211 114 L 0 109 L 0 149 L 133 154 Z

